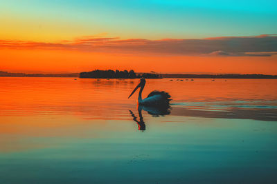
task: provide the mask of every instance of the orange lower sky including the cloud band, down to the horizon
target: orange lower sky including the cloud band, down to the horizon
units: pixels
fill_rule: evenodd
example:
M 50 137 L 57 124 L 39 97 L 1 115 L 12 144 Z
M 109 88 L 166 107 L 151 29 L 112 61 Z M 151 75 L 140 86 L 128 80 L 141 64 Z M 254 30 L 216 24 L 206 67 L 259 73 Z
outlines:
M 208 39 L 120 39 L 106 34 L 62 41 L 0 40 L 0 70 L 91 70 L 277 74 L 276 34 Z

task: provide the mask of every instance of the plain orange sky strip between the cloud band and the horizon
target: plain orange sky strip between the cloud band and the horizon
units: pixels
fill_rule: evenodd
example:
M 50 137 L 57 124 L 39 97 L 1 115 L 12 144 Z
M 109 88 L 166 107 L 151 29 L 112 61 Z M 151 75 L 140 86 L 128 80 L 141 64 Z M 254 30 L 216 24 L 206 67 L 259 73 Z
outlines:
M 277 74 L 277 57 L 115 54 L 72 50 L 0 50 L 0 70 L 9 72 L 81 72 L 94 69 L 136 72 L 212 72 Z

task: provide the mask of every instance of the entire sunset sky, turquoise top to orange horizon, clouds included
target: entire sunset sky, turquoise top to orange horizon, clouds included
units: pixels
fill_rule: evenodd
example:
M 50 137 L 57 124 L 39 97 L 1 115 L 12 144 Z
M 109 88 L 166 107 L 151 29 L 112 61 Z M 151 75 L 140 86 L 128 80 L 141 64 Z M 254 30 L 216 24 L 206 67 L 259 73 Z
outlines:
M 277 74 L 277 1 L 0 0 L 0 70 Z

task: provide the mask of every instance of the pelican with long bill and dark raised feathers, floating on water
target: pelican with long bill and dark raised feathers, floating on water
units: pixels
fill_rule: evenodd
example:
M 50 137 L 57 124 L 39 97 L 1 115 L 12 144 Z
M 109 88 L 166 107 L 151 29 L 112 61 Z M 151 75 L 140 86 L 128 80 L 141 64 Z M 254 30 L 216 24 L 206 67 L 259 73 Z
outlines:
M 146 105 L 146 106 L 169 105 L 169 102 L 171 101 L 170 95 L 167 92 L 163 92 L 163 91 L 160 92 L 160 91 L 154 90 L 150 92 L 150 94 L 148 94 L 147 98 L 142 99 L 141 94 L 143 92 L 145 83 L 146 83 L 145 79 L 141 78 L 139 80 L 139 84 L 136 86 L 136 88 L 134 88 L 133 92 L 129 95 L 129 97 L 131 97 L 132 94 L 134 94 L 134 92 L 136 92 L 138 88 L 141 88 L 139 90 L 139 97 L 138 97 L 139 105 Z

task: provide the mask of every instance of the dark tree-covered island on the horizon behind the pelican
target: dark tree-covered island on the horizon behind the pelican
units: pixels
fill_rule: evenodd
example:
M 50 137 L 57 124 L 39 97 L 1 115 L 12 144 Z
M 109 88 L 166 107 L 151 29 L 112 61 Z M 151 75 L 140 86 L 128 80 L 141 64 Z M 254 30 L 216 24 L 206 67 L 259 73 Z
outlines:
M 161 79 L 161 75 L 152 73 L 137 74 L 134 70 L 93 70 L 91 72 L 80 72 L 80 78 L 93 79 L 138 79 L 144 77 L 145 79 Z

